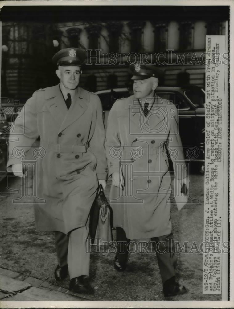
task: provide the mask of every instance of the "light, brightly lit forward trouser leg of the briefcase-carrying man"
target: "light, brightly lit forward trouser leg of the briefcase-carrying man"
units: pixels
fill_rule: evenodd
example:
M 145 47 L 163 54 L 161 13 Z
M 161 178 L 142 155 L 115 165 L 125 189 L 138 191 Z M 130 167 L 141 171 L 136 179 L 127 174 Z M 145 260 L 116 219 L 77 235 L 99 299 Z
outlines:
M 69 234 L 68 271 L 70 279 L 89 275 L 90 253 L 87 248 L 88 227 L 79 227 Z

